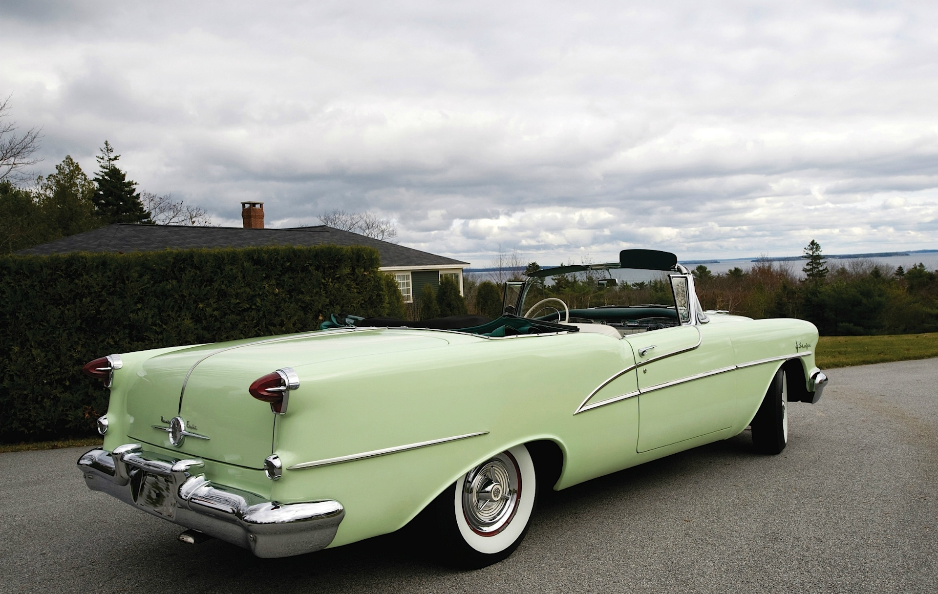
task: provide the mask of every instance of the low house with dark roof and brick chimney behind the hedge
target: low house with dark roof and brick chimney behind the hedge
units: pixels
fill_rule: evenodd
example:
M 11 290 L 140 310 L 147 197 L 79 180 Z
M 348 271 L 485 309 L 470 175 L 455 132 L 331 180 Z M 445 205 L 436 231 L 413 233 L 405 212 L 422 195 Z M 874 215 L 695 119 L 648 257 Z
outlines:
M 241 203 L 243 227 L 190 227 L 181 225 L 141 225 L 113 223 L 93 231 L 63 237 L 49 243 L 17 251 L 18 255 L 50 255 L 74 251 L 159 251 L 195 248 L 252 248 L 259 246 L 368 246 L 381 255 L 379 269 L 393 273 L 405 303 L 412 303 L 430 284 L 434 293 L 440 280 L 451 278 L 462 294 L 462 268 L 467 262 L 427 251 L 414 250 L 389 241 L 372 239 L 351 231 L 325 225 L 264 228 L 264 203 Z

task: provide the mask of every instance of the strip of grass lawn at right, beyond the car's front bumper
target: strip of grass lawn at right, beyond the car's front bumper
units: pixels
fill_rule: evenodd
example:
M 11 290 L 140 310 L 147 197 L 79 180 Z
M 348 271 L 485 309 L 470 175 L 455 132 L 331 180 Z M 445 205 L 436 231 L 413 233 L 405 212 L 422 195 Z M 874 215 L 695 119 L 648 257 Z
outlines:
M 814 359 L 821 369 L 938 357 L 938 332 L 886 336 L 822 336 Z

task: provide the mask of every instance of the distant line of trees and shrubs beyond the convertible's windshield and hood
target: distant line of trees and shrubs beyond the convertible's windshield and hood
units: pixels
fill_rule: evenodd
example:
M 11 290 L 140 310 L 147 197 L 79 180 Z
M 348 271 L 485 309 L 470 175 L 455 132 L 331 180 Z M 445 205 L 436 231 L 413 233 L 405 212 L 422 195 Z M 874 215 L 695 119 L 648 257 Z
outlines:
M 938 331 L 938 273 L 917 264 L 886 269 L 870 260 L 831 266 L 821 245 L 804 249 L 804 278 L 783 263 L 756 262 L 749 270 L 734 267 L 713 274 L 706 266 L 692 270 L 697 295 L 707 310 L 752 318 L 796 317 L 808 320 L 824 336 L 907 334 Z M 537 270 L 537 263 L 527 271 Z M 522 273 L 514 273 L 521 280 Z M 603 272 L 558 275 L 552 284 L 537 282 L 531 296 L 563 299 L 570 309 L 600 305 L 673 304 L 665 278 L 600 286 Z M 501 287 L 467 276 L 463 282 L 469 312 L 497 316 Z M 533 298 L 529 298 L 533 302 Z

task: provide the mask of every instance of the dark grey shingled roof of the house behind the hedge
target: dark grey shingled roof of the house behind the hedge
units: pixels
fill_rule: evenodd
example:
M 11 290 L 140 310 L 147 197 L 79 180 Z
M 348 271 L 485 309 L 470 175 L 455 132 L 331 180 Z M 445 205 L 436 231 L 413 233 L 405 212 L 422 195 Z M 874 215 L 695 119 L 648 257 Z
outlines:
M 253 248 L 259 246 L 368 246 L 381 254 L 382 267 L 464 267 L 461 262 L 427 251 L 372 239 L 325 225 L 291 229 L 243 229 L 241 227 L 189 227 L 114 223 L 75 236 L 63 237 L 18 255 L 50 255 L 74 251 L 159 251 L 195 248 Z

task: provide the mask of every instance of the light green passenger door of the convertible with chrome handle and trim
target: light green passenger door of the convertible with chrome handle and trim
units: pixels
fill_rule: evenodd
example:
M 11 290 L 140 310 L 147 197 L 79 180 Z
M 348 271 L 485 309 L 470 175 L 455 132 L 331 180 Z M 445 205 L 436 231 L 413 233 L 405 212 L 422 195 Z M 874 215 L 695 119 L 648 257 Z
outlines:
M 675 301 L 680 311 L 681 298 Z M 693 317 L 682 312 L 682 326 L 626 339 L 637 365 L 640 452 L 733 424 L 735 361 L 728 325 L 695 324 Z

